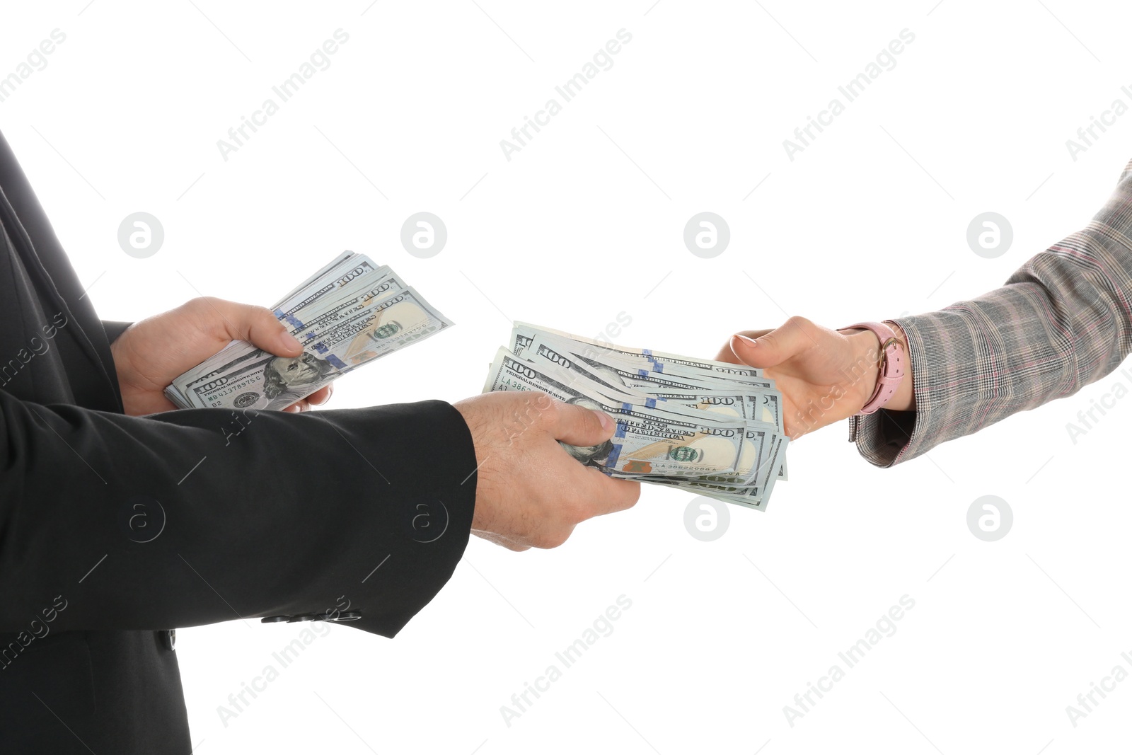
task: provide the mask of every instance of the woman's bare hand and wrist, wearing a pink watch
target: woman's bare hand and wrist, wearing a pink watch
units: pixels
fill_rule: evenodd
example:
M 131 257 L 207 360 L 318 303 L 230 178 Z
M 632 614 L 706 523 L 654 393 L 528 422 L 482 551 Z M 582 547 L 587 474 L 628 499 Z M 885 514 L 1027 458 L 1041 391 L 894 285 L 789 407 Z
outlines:
M 907 353 L 903 332 L 895 326 L 893 331 Z M 872 331 L 831 331 L 791 317 L 773 331 L 731 336 L 715 359 L 766 370 L 782 393 L 786 434 L 797 438 L 865 406 L 876 388 L 880 348 Z M 885 409 L 915 409 L 910 367 Z

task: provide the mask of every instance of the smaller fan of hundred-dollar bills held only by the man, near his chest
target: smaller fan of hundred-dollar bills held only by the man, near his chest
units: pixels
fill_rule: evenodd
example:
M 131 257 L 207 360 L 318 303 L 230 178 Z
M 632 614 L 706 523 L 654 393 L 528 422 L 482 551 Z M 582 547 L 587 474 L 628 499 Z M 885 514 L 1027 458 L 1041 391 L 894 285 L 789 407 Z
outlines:
M 273 308 L 302 344 L 276 357 L 233 341 L 165 388 L 181 409 L 282 410 L 346 372 L 451 327 L 385 265 L 346 251 Z

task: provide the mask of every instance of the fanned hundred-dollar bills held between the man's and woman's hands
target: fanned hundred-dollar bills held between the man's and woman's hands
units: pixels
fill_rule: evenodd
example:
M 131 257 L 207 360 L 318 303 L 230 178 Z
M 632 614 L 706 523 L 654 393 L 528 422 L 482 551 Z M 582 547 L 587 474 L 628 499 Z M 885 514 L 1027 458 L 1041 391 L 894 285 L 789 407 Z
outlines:
M 626 480 L 667 484 L 765 511 L 786 479 L 782 395 L 760 369 L 628 349 L 516 323 L 483 392 L 541 391 L 607 412 L 600 446 L 563 444 L 576 460 Z

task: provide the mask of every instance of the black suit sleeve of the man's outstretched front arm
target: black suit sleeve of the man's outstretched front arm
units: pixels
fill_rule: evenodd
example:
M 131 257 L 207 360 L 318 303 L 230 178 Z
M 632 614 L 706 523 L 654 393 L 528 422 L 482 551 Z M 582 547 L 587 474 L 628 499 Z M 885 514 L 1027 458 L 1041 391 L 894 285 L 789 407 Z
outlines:
M 439 402 L 125 417 L 0 391 L 0 632 L 361 614 L 393 636 L 468 543 L 475 452 Z M 54 612 L 54 611 L 53 611 Z

